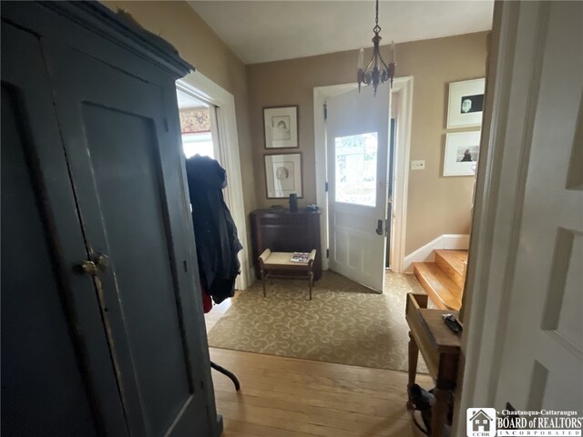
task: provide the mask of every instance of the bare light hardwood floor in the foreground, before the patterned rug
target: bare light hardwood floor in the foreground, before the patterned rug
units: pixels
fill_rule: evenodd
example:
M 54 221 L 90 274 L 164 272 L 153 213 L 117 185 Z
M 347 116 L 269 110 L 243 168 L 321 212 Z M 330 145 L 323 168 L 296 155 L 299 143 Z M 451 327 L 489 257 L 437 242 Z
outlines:
M 210 349 L 241 390 L 213 371 L 224 437 L 417 437 L 405 409 L 407 375 L 343 364 Z M 426 388 L 428 376 L 418 377 Z

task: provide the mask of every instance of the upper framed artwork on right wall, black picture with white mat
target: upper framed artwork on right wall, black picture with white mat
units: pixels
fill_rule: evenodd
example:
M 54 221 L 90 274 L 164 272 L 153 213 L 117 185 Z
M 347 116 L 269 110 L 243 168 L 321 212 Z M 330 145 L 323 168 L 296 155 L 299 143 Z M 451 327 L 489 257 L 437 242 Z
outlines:
M 486 79 L 484 78 L 449 84 L 448 129 L 482 124 L 485 86 Z

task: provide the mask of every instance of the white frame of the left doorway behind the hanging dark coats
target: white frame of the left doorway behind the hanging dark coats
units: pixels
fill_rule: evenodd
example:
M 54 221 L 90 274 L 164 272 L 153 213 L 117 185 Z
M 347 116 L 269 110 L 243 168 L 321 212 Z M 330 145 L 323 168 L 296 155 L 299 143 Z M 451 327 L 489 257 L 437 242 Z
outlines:
M 248 257 L 247 226 L 239 158 L 239 137 L 235 115 L 235 97 L 212 80 L 194 71 L 176 82 L 179 91 L 196 97 L 217 107 L 217 132 L 219 134 L 220 164 L 229 175 L 229 184 L 225 188 L 225 198 L 230 206 L 230 214 L 237 226 L 237 233 L 243 249 L 239 252 L 240 276 L 238 290 L 245 290 L 250 282 L 250 265 Z M 213 140 L 214 142 L 214 140 Z

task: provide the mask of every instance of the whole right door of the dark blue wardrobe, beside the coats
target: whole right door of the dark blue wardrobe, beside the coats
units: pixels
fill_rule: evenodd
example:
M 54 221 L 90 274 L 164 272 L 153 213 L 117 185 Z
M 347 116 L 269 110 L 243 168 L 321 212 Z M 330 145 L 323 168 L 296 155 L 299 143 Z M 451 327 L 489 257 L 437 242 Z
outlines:
M 212 435 L 173 86 L 64 46 L 45 53 L 130 434 Z

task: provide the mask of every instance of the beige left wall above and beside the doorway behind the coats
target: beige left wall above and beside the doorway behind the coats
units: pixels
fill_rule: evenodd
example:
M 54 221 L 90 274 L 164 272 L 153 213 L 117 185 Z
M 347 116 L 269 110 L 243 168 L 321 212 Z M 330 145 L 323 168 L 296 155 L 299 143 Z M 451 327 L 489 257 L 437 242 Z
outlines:
M 144 28 L 175 46 L 180 56 L 200 73 L 235 97 L 245 216 L 249 217 L 256 201 L 243 63 L 186 2 L 104 1 L 103 4 L 114 12 L 126 10 Z M 251 245 L 251 229 L 248 229 L 248 241 Z M 248 251 L 251 257 L 251 248 Z

